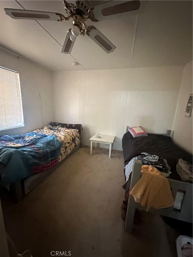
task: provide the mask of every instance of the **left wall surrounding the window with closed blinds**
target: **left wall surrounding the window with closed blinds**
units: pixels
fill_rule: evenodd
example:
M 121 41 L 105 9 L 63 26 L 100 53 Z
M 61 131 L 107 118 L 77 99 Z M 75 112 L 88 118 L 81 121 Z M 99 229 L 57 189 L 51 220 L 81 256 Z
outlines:
M 1 66 L 20 74 L 24 127 L 2 130 L 3 134 L 21 134 L 47 125 L 53 119 L 52 73 L 26 58 L 1 51 Z M 41 98 L 40 98 L 41 95 Z

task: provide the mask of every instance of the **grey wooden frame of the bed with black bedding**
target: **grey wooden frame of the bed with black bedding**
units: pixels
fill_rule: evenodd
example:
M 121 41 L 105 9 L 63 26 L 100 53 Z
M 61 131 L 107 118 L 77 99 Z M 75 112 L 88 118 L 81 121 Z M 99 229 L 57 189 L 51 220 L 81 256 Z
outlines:
M 127 127 L 128 131 L 128 127 Z M 150 134 L 150 133 L 149 133 Z M 162 134 L 165 136 L 170 136 L 171 130 L 167 130 L 167 134 Z M 131 186 L 130 191 L 134 185 L 141 178 L 141 166 L 142 162 L 140 160 L 134 160 L 133 171 L 131 174 Z M 186 221 L 192 223 L 192 184 L 173 180 L 168 178 L 168 182 L 172 191 L 172 196 L 174 200 L 176 199 L 176 194 L 179 191 L 184 191 L 183 200 L 181 203 L 181 209 L 176 210 L 174 206 L 162 209 L 150 209 L 150 212 L 155 212 L 159 215 L 163 215 L 170 218 L 175 218 L 181 221 Z M 127 214 L 125 219 L 125 232 L 131 233 L 134 221 L 135 209 L 146 210 L 146 207 L 143 207 L 140 203 L 135 202 L 134 197 L 129 195 L 128 205 L 127 205 Z

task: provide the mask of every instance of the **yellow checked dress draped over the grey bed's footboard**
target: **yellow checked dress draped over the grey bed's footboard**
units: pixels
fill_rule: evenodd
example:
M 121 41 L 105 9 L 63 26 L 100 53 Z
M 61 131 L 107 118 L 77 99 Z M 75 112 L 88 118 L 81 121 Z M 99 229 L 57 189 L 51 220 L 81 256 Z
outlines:
M 172 206 L 174 199 L 167 178 L 149 165 L 142 165 L 141 172 L 142 177 L 130 192 L 135 202 L 147 206 L 147 211 L 151 207 L 159 209 Z

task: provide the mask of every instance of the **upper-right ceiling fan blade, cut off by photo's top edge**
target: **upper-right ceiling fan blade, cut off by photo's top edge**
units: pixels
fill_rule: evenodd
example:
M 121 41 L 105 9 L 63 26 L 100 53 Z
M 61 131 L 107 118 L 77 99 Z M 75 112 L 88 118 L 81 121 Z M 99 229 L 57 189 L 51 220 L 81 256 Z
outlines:
M 128 14 L 139 14 L 144 11 L 147 1 L 108 1 L 94 7 L 93 14 L 98 20 L 104 20 L 109 15 L 128 12 Z

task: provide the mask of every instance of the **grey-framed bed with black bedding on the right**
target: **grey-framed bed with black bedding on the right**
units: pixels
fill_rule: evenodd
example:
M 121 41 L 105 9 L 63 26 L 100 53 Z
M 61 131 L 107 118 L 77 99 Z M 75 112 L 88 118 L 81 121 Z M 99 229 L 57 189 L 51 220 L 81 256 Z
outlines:
M 173 198 L 176 200 L 178 192 L 183 192 L 181 207 L 180 209 L 176 209 L 174 206 L 171 206 L 162 209 L 150 209 L 149 211 L 192 223 L 192 183 L 182 181 L 179 174 L 176 172 L 176 164 L 178 163 L 179 158 L 192 164 L 192 155 L 174 144 L 170 137 L 170 133 L 171 131 L 168 130 L 166 134 L 148 133 L 148 136 L 133 138 L 128 132 L 127 127 L 127 132 L 122 138 L 124 164 L 125 166 L 128 165 L 135 156 L 141 155 L 142 152 L 165 158 L 168 165 L 171 167 L 170 171 L 172 173 L 167 179 L 171 187 Z M 128 203 L 125 218 L 125 231 L 128 233 L 131 233 L 132 231 L 135 209 L 146 210 L 140 203 L 136 203 L 134 197 L 129 194 L 129 191 L 141 177 L 141 167 L 142 161 L 138 159 L 134 160 L 132 172 L 130 173 L 129 178 L 127 178 L 127 183 L 123 186 L 125 190 L 128 190 Z M 127 193 L 125 193 L 125 196 L 126 195 Z

